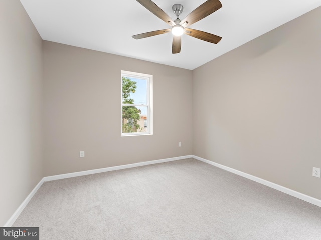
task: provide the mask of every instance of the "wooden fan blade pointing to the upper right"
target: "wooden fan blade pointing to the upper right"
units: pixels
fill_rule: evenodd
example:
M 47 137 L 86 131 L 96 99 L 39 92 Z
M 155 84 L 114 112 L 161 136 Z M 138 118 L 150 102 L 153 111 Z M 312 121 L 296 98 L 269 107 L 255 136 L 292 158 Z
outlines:
M 207 17 L 208 15 L 212 14 L 213 12 L 217 11 L 222 7 L 222 3 L 219 0 L 208 0 L 192 11 L 187 17 L 185 17 L 180 25 L 183 27 L 187 27 L 203 18 Z

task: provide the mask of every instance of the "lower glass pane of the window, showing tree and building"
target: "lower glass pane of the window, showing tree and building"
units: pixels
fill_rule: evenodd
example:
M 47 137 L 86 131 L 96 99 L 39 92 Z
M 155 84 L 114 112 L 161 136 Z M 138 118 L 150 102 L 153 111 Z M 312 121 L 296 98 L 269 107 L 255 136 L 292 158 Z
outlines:
M 147 106 L 122 107 L 122 132 L 147 132 Z

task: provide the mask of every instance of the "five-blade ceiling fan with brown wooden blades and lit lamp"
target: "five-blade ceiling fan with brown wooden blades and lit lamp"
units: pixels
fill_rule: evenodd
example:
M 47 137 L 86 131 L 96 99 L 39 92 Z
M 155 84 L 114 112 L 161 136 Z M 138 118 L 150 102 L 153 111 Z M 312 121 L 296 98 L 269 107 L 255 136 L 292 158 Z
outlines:
M 213 35 L 208 32 L 187 28 L 189 25 L 192 25 L 193 23 L 207 17 L 208 15 L 220 9 L 222 7 L 222 4 L 219 0 L 207 0 L 202 5 L 197 7 L 194 11 L 192 11 L 183 20 L 179 19 L 179 16 L 183 11 L 183 6 L 181 4 L 174 4 L 172 7 L 172 10 L 176 15 L 175 21 L 173 21 L 161 8 L 159 8 L 151 0 L 136 0 L 136 1 L 138 1 L 151 13 L 161 18 L 161 20 L 165 21 L 172 28 L 134 35 L 132 36 L 134 39 L 141 39 L 145 37 L 156 36 L 156 35 L 172 32 L 172 34 L 174 35 L 173 44 L 172 44 L 173 54 L 181 52 L 181 35 L 183 35 L 183 33 L 203 41 L 214 43 L 214 44 L 217 44 L 222 39 L 222 37 Z

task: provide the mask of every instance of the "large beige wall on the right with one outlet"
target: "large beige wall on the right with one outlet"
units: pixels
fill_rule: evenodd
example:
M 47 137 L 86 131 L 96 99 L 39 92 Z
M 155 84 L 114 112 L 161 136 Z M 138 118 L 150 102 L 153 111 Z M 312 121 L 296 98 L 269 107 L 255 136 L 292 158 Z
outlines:
M 320 16 L 193 71 L 194 155 L 321 199 Z

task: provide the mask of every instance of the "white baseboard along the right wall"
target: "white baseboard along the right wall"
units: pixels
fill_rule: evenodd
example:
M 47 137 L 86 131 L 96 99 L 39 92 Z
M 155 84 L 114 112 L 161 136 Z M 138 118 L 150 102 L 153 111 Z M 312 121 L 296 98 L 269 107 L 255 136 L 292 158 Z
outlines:
M 236 175 L 243 176 L 243 177 L 245 177 L 245 178 L 247 178 L 247 179 L 250 179 L 250 180 L 252 180 L 252 181 L 256 181 L 256 182 L 258 182 L 258 183 L 260 183 L 260 184 L 262 184 L 262 185 L 271 187 L 271 188 L 273 188 L 273 189 L 275 189 L 275 190 L 281 191 L 281 192 L 286 193 L 286 194 L 288 194 L 288 195 L 290 195 L 290 196 L 294 196 L 294 197 L 296 197 L 296 198 L 298 198 L 298 199 L 301 199 L 301 200 L 303 200 L 303 201 L 306 201 L 306 202 L 309 202 L 309 203 L 311 203 L 311 204 L 313 204 L 313 205 L 316 205 L 316 206 L 321 207 L 321 200 L 319 200 L 319 199 L 316 199 L 316 198 L 313 198 L 313 197 L 311 197 L 311 196 L 302 194 L 302 193 L 300 193 L 300 192 L 291 190 L 291 189 L 286 188 L 286 187 L 284 187 L 284 186 L 280 186 L 280 185 L 278 185 L 278 184 L 275 184 L 275 183 L 273 183 L 273 182 L 270 182 L 270 181 L 261 179 L 261 178 L 259 178 L 259 177 L 252 176 L 252 175 L 247 174 L 247 173 L 244 173 L 244 172 L 242 172 L 242 171 L 238 171 L 238 170 L 235 170 L 235 169 L 233 169 L 233 168 L 230 168 L 230 167 L 227 167 L 227 166 L 224 166 L 224 165 L 215 163 L 215 162 L 213 162 L 213 161 L 206 160 L 206 159 L 201 158 L 201 157 L 198 157 L 198 156 L 192 155 L 192 157 L 193 157 L 194 159 L 199 160 L 199 161 L 203 161 L 203 162 L 208 163 L 208 164 L 210 164 L 210 165 L 212 165 L 212 166 L 216 166 L 216 167 L 221 168 L 221 169 L 223 169 L 223 170 L 232 172 L 232 173 L 234 173 L 234 174 L 236 174 Z

